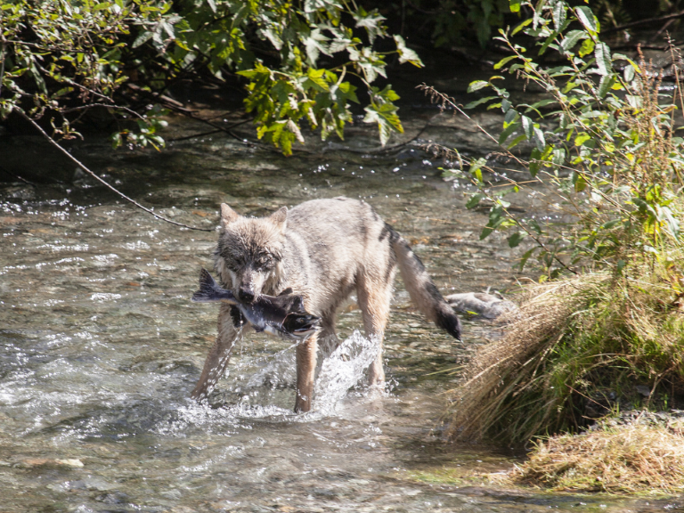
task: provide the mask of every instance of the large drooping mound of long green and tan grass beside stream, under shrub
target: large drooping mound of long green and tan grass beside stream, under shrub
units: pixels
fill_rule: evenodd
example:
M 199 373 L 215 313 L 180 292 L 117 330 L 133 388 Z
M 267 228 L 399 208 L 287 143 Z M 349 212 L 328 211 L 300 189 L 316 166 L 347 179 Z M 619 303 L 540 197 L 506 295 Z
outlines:
M 659 249 L 684 257 L 672 241 Z M 528 289 L 504 337 L 477 351 L 451 391 L 450 435 L 525 442 L 610 411 L 680 408 L 682 284 L 677 266 L 644 260 L 617 280 L 593 273 Z

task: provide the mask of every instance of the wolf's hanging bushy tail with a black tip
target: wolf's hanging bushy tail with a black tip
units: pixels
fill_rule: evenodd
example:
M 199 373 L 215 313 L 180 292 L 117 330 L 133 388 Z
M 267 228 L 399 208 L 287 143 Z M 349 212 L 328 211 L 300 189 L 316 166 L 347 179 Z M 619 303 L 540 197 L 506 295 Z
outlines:
M 409 243 L 399 233 L 395 232 L 389 224 L 390 244 L 395 251 L 399 271 L 402 273 L 403 284 L 409 291 L 411 301 L 419 307 L 420 312 L 437 327 L 446 330 L 453 338 L 460 340 L 460 321 L 453 313 L 452 307 L 446 302 L 442 294 L 436 288 L 425 265 L 420 258 L 413 253 Z

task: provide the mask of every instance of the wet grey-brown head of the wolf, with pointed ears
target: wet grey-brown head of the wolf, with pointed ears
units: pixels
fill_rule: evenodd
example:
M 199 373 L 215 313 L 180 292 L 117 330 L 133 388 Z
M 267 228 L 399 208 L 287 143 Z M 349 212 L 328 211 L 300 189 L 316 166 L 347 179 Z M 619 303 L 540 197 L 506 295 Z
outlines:
M 242 217 L 221 204 L 216 271 L 243 303 L 273 294 L 281 276 L 282 245 L 288 208 L 268 217 Z

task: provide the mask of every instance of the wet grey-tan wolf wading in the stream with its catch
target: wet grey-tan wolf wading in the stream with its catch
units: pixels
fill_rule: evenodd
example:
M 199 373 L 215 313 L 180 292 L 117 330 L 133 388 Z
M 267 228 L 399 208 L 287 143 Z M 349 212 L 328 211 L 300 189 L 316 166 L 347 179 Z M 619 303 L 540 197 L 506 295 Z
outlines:
M 379 342 L 368 381 L 371 386 L 384 383 L 382 338 L 397 265 L 411 301 L 439 328 L 460 339 L 459 318 L 419 257 L 362 200 L 314 199 L 258 218 L 240 216 L 223 203 L 214 264 L 224 288 L 231 289 L 241 302 L 292 289 L 304 297 L 306 312 L 321 318 L 321 329 L 297 344 L 296 412 L 311 409 L 318 341 L 338 343 L 338 306 L 354 291 L 366 336 Z M 237 307 L 222 304 L 216 343 L 191 392 L 193 399 L 206 400 L 216 387 L 243 327 L 248 322 Z

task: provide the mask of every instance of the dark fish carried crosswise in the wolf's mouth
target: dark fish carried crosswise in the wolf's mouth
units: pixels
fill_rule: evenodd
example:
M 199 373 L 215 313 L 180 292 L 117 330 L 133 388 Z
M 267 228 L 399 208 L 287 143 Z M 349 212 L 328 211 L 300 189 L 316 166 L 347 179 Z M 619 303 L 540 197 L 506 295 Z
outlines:
M 304 297 L 283 290 L 278 296 L 261 294 L 251 303 L 240 303 L 232 290 L 222 289 L 207 269 L 199 273 L 199 290 L 192 294 L 194 303 L 223 301 L 234 305 L 256 331 L 266 331 L 282 338 L 302 340 L 313 335 L 320 327 L 320 317 L 307 314 Z

